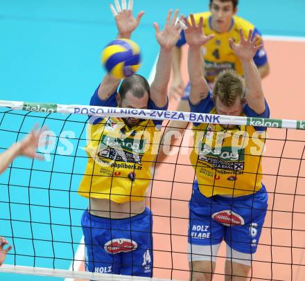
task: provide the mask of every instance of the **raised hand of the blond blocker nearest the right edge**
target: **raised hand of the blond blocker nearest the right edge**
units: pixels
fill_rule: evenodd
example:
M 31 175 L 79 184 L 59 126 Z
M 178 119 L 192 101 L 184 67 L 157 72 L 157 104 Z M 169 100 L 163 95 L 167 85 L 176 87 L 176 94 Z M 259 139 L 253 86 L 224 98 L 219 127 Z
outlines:
M 229 39 L 229 44 L 231 48 L 233 49 L 234 53 L 240 58 L 240 60 L 252 60 L 256 52 L 259 49 L 263 48 L 263 44 L 259 44 L 261 37 L 254 37 L 254 39 L 252 39 L 253 30 L 250 30 L 246 40 L 242 29 L 239 30 L 239 36 L 241 38 L 239 44 L 236 44 L 232 38 Z M 259 45 L 256 46 L 257 44 Z

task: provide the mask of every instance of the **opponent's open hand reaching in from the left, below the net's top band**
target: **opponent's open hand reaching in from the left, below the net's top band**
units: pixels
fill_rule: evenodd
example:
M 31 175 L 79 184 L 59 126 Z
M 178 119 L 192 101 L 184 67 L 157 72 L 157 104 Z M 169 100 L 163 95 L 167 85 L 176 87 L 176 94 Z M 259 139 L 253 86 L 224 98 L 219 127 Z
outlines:
M 37 126 L 35 126 L 32 132 L 27 134 L 26 137 L 18 143 L 19 155 L 44 160 L 44 156 L 36 153 L 38 147 L 45 145 L 45 140 L 40 142 L 40 136 L 42 136 L 44 131 L 46 131 L 46 127 L 37 130 Z

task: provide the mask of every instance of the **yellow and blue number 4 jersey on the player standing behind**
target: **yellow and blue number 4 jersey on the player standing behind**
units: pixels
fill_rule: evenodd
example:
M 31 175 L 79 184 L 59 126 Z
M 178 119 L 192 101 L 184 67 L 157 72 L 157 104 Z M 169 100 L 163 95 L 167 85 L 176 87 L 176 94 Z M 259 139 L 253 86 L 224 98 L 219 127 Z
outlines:
M 234 16 L 232 19 L 232 26 L 226 33 L 217 33 L 211 28 L 211 12 L 201 12 L 194 15 L 196 24 L 199 23 L 200 17 L 203 17 L 204 34 L 214 34 L 215 37 L 207 44 L 202 46 L 202 57 L 205 62 L 205 77 L 208 82 L 214 82 L 217 75 L 224 69 L 235 69 L 238 74 L 243 75 L 243 67 L 241 61 L 234 54 L 234 51 L 229 46 L 229 38 L 234 39 L 234 42 L 239 42 L 239 29 L 242 28 L 245 36 L 249 34 L 249 30 L 254 30 L 253 36 L 261 37 L 261 33 L 253 24 L 241 17 Z M 186 43 L 184 32 L 182 31 L 180 40 L 177 46 L 182 46 Z M 267 63 L 267 55 L 265 50 L 256 52 L 254 56 L 256 66 L 263 66 Z

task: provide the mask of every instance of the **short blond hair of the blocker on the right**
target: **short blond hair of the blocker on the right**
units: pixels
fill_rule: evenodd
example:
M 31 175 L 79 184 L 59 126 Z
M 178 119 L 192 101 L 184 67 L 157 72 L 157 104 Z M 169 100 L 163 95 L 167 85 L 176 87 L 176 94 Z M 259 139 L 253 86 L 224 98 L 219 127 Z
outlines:
M 234 105 L 237 98 L 245 99 L 245 83 L 241 75 L 233 69 L 221 71 L 216 78 L 213 96 L 219 98 L 223 105 L 229 107 Z

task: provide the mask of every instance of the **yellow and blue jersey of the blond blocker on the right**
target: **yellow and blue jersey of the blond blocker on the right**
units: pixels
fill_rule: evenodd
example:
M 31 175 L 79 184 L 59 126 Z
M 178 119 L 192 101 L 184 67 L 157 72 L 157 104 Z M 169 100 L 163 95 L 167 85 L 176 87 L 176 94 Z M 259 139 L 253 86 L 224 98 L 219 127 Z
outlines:
M 214 102 L 208 96 L 191 111 L 216 114 Z M 244 116 L 268 118 L 270 111 L 256 114 L 247 104 Z M 265 128 L 238 126 L 224 129 L 219 124 L 193 124 L 194 148 L 191 164 L 195 169 L 199 190 L 205 197 L 252 194 L 261 189 L 262 158 L 265 148 Z

